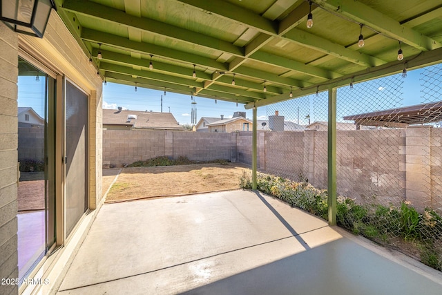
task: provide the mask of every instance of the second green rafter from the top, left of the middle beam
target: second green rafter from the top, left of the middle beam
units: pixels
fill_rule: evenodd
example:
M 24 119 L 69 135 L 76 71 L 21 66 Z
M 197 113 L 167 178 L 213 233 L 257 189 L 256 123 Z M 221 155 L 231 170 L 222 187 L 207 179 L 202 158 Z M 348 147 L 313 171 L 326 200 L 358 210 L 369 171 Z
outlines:
M 109 34 L 106 32 L 99 32 L 83 28 L 81 32 L 81 39 L 94 43 L 102 43 L 109 46 L 114 46 L 123 50 L 133 51 L 141 54 L 151 54 L 161 57 L 173 59 L 178 63 L 196 64 L 198 66 L 213 68 L 218 70 L 227 70 L 227 64 L 215 61 L 209 57 L 202 57 L 193 53 L 184 53 L 180 50 L 157 46 L 143 42 L 131 41 L 125 37 Z

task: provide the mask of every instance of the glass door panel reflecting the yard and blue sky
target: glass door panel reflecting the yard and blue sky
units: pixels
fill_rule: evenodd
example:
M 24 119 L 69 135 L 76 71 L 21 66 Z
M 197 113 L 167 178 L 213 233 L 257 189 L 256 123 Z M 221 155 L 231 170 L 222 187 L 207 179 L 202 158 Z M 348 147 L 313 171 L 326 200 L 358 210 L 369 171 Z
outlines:
M 26 278 L 55 242 L 55 79 L 19 58 L 18 254 Z

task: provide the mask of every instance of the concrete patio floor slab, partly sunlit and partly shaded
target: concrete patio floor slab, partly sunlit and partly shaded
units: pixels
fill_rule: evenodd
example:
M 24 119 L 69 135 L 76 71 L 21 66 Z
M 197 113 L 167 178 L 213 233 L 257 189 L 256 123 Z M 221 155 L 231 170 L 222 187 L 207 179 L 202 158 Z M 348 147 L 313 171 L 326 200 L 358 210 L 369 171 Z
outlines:
M 419 265 L 419 263 L 416 263 Z M 262 193 L 104 204 L 57 294 L 441 294 L 442 276 Z

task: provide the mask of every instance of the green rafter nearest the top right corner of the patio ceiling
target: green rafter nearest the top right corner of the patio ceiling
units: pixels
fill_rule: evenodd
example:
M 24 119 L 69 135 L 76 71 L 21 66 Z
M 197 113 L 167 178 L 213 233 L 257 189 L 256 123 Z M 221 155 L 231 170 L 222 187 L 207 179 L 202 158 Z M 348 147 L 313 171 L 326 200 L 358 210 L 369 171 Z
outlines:
M 334 13 L 339 13 L 349 19 L 363 23 L 365 26 L 381 32 L 390 38 L 402 41 L 405 44 L 418 48 L 419 50 L 427 51 L 442 47 L 438 41 L 427 37 L 420 32 L 413 30 L 407 26 L 402 26 L 401 23 L 387 17 L 383 13 L 370 8 L 361 3 L 361 1 L 354 0 L 315 0 L 320 6 L 327 10 L 332 10 Z M 398 4 L 400 5 L 400 4 Z

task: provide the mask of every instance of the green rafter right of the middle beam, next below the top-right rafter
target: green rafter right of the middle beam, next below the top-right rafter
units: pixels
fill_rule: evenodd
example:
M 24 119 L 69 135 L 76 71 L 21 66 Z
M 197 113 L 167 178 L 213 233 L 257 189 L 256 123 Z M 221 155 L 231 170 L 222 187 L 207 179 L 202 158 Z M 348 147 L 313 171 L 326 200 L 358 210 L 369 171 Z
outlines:
M 295 28 L 290 32 L 287 32 L 285 35 L 283 35 L 283 37 L 286 37 L 291 41 L 295 41 L 302 46 L 317 50 L 327 55 L 333 55 L 334 57 L 344 59 L 360 66 L 372 67 L 385 64 L 385 61 L 383 61 L 382 59 L 378 59 L 376 57 L 372 57 L 370 55 L 345 48 L 345 46 L 336 44 L 332 41 L 329 41 L 322 37 L 318 37 L 314 34 L 305 32 L 300 29 Z

